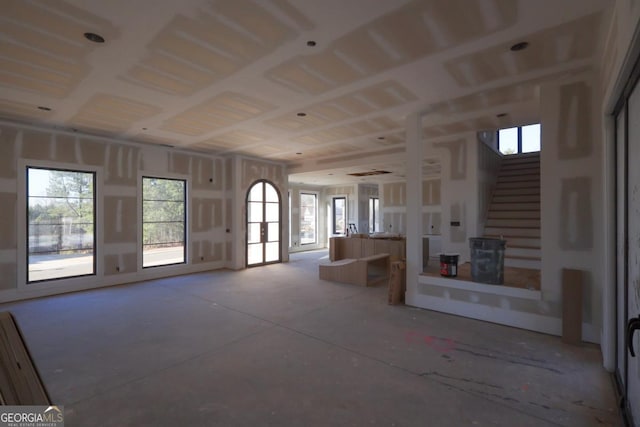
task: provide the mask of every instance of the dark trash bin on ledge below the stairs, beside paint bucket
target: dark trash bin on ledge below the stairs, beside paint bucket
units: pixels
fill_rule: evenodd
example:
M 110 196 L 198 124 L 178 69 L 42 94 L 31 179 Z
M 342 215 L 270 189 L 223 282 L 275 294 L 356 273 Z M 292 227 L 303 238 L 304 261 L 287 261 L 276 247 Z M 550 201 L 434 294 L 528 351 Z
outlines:
M 471 280 L 489 285 L 504 284 L 504 249 L 506 241 L 471 237 Z

